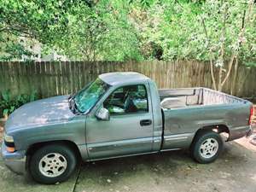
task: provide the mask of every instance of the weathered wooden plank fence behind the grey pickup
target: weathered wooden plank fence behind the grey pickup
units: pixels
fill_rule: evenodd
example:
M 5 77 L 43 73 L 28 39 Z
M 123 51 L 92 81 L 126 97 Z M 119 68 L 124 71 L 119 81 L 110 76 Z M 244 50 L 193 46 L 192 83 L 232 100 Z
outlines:
M 11 90 L 16 95 L 37 90 L 42 97 L 65 95 L 81 89 L 98 74 L 127 71 L 147 75 L 160 88 L 212 88 L 209 65 L 198 61 L 0 62 L 0 92 Z M 256 67 L 239 66 L 236 79 L 232 71 L 224 92 L 230 93 L 232 85 L 236 96 L 256 96 Z

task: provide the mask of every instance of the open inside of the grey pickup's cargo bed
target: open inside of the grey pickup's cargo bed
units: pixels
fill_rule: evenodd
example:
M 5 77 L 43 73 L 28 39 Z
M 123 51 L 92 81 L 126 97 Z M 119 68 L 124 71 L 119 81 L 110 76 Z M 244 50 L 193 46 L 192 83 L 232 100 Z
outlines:
M 159 90 L 159 94 L 160 105 L 164 109 L 246 102 L 236 96 L 201 87 Z

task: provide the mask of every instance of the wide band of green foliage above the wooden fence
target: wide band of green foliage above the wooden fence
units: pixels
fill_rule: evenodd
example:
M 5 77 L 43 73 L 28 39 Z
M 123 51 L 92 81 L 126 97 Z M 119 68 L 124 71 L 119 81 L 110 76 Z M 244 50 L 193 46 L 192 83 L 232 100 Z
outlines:
M 226 35 L 222 39 L 225 8 Z M 25 37 L 72 60 L 89 61 L 207 61 L 210 56 L 218 61 L 224 41 L 224 59 L 228 60 L 237 47 L 246 8 L 247 1 L 237 0 L 3 0 L 0 59 L 32 55 L 19 42 Z M 253 15 L 239 53 L 248 65 L 256 59 L 255 8 Z

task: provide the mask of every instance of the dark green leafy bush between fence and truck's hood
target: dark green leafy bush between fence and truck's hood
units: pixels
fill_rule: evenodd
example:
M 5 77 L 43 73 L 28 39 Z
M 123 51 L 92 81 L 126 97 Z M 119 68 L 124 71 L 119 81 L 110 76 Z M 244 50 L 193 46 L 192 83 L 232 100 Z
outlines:
M 30 95 L 20 94 L 14 97 L 11 96 L 10 90 L 6 90 L 0 97 L 0 109 L 3 110 L 3 116 L 8 116 L 26 102 L 33 102 L 37 99 L 38 92 L 36 90 L 32 91 Z

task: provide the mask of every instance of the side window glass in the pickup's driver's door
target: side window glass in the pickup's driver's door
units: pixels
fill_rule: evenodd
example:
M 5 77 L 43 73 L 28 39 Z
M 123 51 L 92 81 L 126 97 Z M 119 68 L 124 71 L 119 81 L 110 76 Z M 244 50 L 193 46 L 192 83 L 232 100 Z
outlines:
M 103 103 L 110 114 L 148 112 L 148 95 L 143 84 L 120 87 Z

